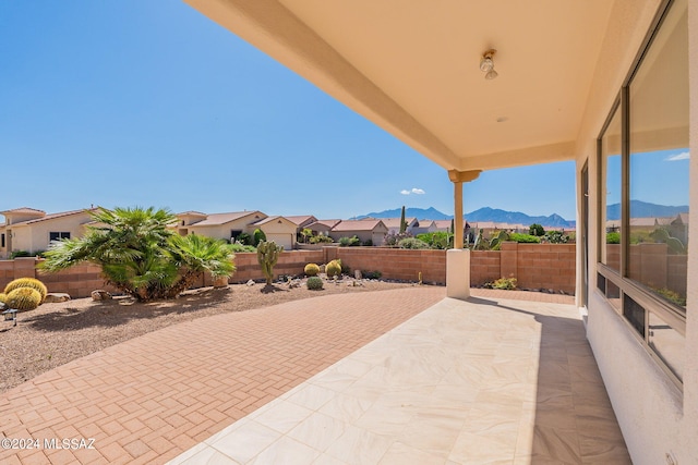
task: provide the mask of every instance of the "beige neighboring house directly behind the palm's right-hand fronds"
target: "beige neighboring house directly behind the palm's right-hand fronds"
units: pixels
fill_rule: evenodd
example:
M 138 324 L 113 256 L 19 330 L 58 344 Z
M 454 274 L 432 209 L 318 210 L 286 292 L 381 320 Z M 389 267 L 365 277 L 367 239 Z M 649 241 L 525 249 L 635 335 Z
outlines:
M 177 215 L 177 232 L 180 235 L 201 234 L 234 242 L 243 232 L 252 235 L 256 229 L 253 224 L 267 217 L 257 210 L 210 215 L 185 211 Z

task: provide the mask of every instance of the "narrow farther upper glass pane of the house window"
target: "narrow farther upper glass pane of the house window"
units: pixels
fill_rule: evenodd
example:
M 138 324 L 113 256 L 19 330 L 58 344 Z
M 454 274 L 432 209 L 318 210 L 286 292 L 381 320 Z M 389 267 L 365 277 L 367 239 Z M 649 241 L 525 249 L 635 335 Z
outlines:
M 601 262 L 621 271 L 621 111 L 616 110 L 601 138 Z

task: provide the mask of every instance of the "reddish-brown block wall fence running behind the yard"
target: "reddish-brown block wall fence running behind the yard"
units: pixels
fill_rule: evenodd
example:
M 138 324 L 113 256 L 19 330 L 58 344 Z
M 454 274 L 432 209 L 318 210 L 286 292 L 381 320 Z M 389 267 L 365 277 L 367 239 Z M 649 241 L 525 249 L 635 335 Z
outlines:
M 384 279 L 416 282 L 421 272 L 425 283 L 446 282 L 446 250 L 336 246 L 290 250 L 281 253 L 274 272 L 277 276 L 301 274 L 306 264 L 327 264 L 335 258 L 341 259 L 352 271 L 381 271 Z M 472 286 L 514 277 L 519 287 L 575 292 L 574 244 L 504 243 L 501 252 L 473 250 L 470 258 Z M 58 273 L 44 273 L 36 268 L 39 261 L 41 259 L 33 257 L 0 260 L 0 287 L 13 279 L 29 277 L 40 279 L 49 292 L 64 292 L 73 298 L 87 297 L 96 289 L 115 291 L 105 285 L 97 266 L 81 265 Z M 236 266 L 238 270 L 230 278 L 231 283 L 264 279 L 255 253 L 236 254 Z M 194 285 L 212 284 L 210 277 L 204 276 Z

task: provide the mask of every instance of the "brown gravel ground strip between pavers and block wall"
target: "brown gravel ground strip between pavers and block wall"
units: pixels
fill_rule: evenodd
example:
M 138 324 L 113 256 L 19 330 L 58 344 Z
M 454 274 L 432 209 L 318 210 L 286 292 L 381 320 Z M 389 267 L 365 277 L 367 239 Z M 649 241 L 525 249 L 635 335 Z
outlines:
M 16 327 L 0 320 L 0 392 L 70 360 L 182 321 L 318 295 L 414 285 L 362 281 L 354 286 L 351 282 L 328 282 L 322 291 L 278 284 L 272 292 L 265 292 L 264 284 L 233 284 L 188 291 L 177 299 L 146 304 L 124 296 L 101 302 L 77 298 L 44 304 L 19 314 Z

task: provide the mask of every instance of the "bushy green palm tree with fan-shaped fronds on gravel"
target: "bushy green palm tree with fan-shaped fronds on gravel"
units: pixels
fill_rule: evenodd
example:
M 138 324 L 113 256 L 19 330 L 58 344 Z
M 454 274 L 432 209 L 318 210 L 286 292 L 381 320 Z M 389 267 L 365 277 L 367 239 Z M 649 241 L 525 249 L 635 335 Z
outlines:
M 82 237 L 55 243 L 41 268 L 59 271 L 84 261 L 101 267 L 108 284 L 139 301 L 171 298 L 209 271 L 234 271 L 229 245 L 210 237 L 176 235 L 168 225 L 177 217 L 166 209 L 101 208 L 92 213 L 97 225 Z

